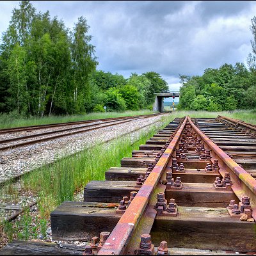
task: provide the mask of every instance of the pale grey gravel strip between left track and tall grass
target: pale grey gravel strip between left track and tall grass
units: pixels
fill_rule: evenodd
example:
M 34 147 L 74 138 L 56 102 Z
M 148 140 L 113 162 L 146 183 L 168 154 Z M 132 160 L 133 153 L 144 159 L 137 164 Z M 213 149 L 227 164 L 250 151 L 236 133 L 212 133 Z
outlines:
M 0 156 L 0 182 L 22 175 L 44 164 L 52 163 L 63 156 L 79 152 L 98 141 L 111 140 L 116 136 L 132 132 L 159 120 L 161 120 L 161 116 L 132 120 L 125 124 L 3 151 Z

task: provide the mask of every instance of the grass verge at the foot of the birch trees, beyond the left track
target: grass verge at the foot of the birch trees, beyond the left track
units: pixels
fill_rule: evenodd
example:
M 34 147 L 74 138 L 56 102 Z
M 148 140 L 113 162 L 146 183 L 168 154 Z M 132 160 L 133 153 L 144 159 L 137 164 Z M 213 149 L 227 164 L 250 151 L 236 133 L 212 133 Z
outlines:
M 55 124 L 64 122 L 74 122 L 81 120 L 102 119 L 120 116 L 134 116 L 134 115 L 148 115 L 153 112 L 149 109 L 140 111 L 125 111 L 125 112 L 106 112 L 106 113 L 89 113 L 86 115 L 68 115 L 68 116 L 45 116 L 42 118 L 17 118 L 11 114 L 0 113 L 0 129 L 42 125 L 42 124 Z

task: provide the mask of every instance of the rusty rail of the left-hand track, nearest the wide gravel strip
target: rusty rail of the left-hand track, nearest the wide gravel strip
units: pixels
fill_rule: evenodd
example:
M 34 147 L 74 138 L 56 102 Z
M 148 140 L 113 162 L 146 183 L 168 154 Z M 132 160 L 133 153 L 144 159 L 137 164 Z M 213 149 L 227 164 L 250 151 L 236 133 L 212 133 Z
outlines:
M 13 145 L 8 145 L 8 146 L 0 147 L 0 150 L 8 150 L 8 149 L 17 148 L 17 147 L 23 147 L 23 146 L 26 146 L 26 145 L 35 144 L 35 143 L 39 143 L 39 142 L 42 142 L 42 141 L 54 140 L 54 139 L 57 139 L 57 138 L 70 136 L 70 135 L 77 134 L 77 133 L 83 133 L 83 132 L 93 131 L 93 130 L 97 130 L 97 129 L 101 129 L 101 128 L 105 128 L 105 127 L 109 127 L 109 126 L 113 126 L 113 125 L 124 124 L 126 122 L 131 122 L 131 121 L 134 121 L 134 120 L 143 119 L 143 118 L 147 118 L 147 117 L 148 116 L 137 117 L 137 118 L 129 118 L 128 120 L 125 119 L 125 121 L 118 122 L 117 124 L 116 123 L 115 124 L 108 124 L 108 125 L 95 124 L 95 125 L 101 125 L 101 126 L 94 127 L 94 128 L 91 127 L 89 129 L 83 129 L 82 131 L 67 132 L 65 134 L 54 135 L 54 136 L 50 136 L 50 137 L 47 137 L 47 138 L 41 138 L 41 139 L 38 139 L 38 140 L 26 141 L 26 142 L 22 142 L 22 143 L 13 144 Z M 109 121 L 109 122 L 112 123 L 112 121 Z M 39 134 L 38 136 L 42 136 L 42 135 L 44 135 L 44 134 Z

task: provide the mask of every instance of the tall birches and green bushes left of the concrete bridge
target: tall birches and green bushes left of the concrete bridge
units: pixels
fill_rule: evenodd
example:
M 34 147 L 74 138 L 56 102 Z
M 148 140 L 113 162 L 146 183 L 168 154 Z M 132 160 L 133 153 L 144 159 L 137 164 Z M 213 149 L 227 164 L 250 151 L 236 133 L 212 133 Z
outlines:
M 65 27 L 29 1 L 14 8 L 0 44 L 0 112 L 22 116 L 81 114 L 148 108 L 153 92 L 168 90 L 154 71 L 120 74 L 97 70 L 87 20 Z

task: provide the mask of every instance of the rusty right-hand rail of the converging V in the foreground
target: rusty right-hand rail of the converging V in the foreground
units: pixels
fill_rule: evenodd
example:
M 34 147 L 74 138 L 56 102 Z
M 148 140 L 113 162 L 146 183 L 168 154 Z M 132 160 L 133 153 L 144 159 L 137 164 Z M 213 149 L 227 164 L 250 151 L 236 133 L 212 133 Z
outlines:
M 188 118 L 193 130 L 204 140 L 205 144 L 212 149 L 212 154 L 218 156 L 219 165 L 221 166 L 219 172 L 224 177 L 224 173 L 231 170 L 230 177 L 233 180 L 232 190 L 237 198 L 241 200 L 242 196 L 249 196 L 252 205 L 252 216 L 256 219 L 256 180 L 246 172 L 239 164 L 237 164 L 231 157 L 229 157 L 221 148 L 219 148 L 204 132 L 200 131 L 191 118 Z

